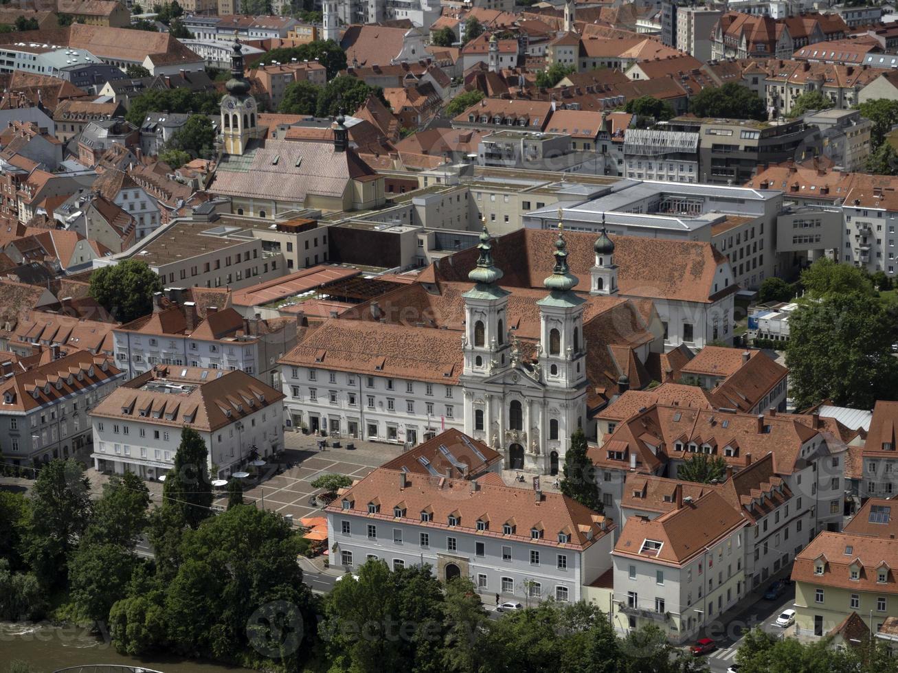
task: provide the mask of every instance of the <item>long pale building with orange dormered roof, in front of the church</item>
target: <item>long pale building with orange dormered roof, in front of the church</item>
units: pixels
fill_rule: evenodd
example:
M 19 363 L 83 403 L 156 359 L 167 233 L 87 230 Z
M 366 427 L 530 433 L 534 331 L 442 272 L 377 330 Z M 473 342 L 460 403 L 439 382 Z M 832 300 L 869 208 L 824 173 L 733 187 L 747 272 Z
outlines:
M 470 577 L 478 593 L 500 600 L 577 601 L 611 565 L 609 520 L 561 494 L 506 486 L 492 473 L 469 480 L 384 466 L 325 511 L 332 565 L 429 564 L 439 579 Z

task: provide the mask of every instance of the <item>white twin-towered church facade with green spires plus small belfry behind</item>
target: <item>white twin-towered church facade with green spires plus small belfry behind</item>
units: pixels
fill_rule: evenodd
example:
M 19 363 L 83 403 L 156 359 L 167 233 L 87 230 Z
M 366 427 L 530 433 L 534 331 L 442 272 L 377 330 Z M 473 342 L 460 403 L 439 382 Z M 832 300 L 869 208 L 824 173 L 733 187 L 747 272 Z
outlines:
M 559 220 L 560 214 L 559 210 Z M 462 294 L 465 432 L 503 453 L 506 468 L 555 474 L 571 433 L 585 426 L 587 389 L 586 300 L 574 292 L 579 279 L 568 267 L 562 223 L 552 253 L 555 265 L 543 282 L 549 293 L 536 302 L 539 333 L 535 325 L 526 325 L 525 315 L 516 316 L 527 345 L 520 343 L 516 330 L 508 329 L 508 302 L 522 301 L 515 311 L 522 314 L 527 310 L 524 295 L 530 291 L 515 298 L 498 284 L 503 274 L 493 260 L 486 225 L 477 248 L 480 258 L 468 276 L 474 286 Z M 590 293 L 616 293 L 614 244 L 604 227 L 594 252 Z M 539 341 L 534 351 L 535 337 Z

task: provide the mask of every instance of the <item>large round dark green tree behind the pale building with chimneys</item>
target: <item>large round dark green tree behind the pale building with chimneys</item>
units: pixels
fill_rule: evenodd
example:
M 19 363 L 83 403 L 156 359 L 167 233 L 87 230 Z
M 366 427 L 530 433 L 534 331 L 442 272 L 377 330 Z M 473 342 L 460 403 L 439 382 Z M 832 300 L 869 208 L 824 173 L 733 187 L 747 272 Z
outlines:
M 146 262 L 125 259 L 94 271 L 88 293 L 120 322 L 130 322 L 153 312 L 153 294 L 162 289 Z

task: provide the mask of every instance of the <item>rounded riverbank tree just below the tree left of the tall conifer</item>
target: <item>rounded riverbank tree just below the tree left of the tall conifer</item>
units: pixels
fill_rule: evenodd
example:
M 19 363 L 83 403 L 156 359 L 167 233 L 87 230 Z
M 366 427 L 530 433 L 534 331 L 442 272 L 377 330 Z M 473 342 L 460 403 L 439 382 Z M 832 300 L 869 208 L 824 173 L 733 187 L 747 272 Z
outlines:
M 105 621 L 125 595 L 136 556 L 118 545 L 83 543 L 69 564 L 69 595 L 79 614 Z

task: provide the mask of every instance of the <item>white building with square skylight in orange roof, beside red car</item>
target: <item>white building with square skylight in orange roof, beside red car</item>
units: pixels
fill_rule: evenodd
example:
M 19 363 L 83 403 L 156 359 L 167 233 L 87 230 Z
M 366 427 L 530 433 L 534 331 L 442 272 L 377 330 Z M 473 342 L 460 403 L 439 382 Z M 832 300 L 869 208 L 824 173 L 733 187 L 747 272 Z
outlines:
M 678 498 L 656 519 L 630 518 L 612 552 L 618 631 L 660 626 L 674 643 L 697 634 L 748 590 L 747 521 L 713 491 Z

